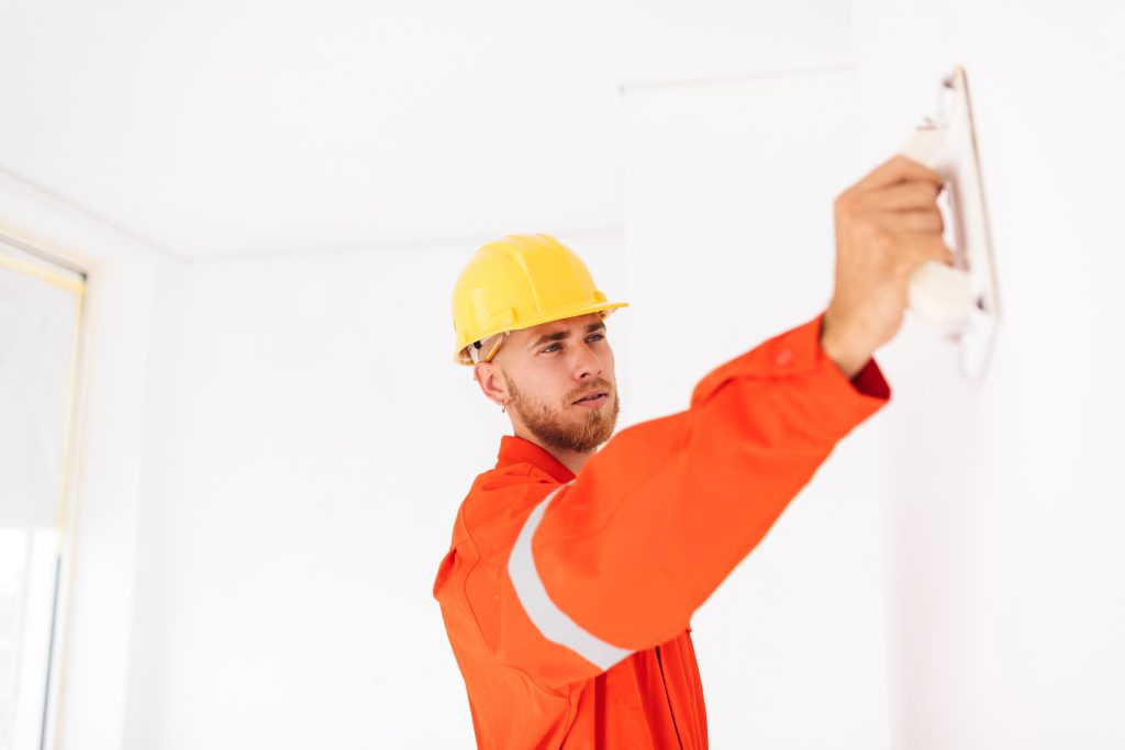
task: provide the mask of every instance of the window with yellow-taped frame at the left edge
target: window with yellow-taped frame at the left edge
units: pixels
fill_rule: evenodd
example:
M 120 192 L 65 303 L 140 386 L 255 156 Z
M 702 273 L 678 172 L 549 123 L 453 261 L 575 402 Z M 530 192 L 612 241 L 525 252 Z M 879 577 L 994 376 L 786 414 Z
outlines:
M 52 734 L 84 293 L 81 272 L 0 237 L 0 750 Z

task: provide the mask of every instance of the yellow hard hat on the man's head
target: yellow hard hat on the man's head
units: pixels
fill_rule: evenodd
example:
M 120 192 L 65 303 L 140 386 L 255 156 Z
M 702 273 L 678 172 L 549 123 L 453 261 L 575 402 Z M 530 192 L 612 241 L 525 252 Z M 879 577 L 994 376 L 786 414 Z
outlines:
M 513 234 L 477 251 L 453 287 L 459 364 L 468 346 L 505 331 L 588 313 L 604 318 L 627 302 L 606 301 L 574 252 L 546 234 Z

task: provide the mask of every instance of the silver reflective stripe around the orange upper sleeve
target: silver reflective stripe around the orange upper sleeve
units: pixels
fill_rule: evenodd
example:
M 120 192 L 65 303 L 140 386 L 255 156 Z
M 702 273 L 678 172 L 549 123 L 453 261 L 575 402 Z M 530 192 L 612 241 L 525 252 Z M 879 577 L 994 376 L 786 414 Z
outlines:
M 582 625 L 570 620 L 569 615 L 559 609 L 551 602 L 551 597 L 547 595 L 543 581 L 536 569 L 536 560 L 531 554 L 531 537 L 539 528 L 539 522 L 543 519 L 547 506 L 562 487 L 548 495 L 528 516 L 515 540 L 515 546 L 512 548 L 512 557 L 507 560 L 507 575 L 512 579 L 512 586 L 515 587 L 515 595 L 520 598 L 523 611 L 528 613 L 528 617 L 543 634 L 543 638 L 552 643 L 565 645 L 601 669 L 609 669 L 631 652 L 611 645 L 588 633 L 583 630 Z

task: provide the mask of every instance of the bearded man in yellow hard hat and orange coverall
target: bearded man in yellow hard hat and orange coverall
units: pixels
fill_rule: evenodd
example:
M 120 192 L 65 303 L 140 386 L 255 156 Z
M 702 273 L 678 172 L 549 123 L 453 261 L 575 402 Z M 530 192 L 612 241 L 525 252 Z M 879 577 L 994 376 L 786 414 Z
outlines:
M 890 398 L 872 354 L 910 273 L 952 263 L 939 190 L 897 156 L 842 193 L 827 310 L 613 440 L 604 318 L 624 304 L 546 235 L 478 251 L 453 292 L 456 356 L 514 435 L 465 498 L 433 593 L 480 748 L 706 747 L 691 615 Z

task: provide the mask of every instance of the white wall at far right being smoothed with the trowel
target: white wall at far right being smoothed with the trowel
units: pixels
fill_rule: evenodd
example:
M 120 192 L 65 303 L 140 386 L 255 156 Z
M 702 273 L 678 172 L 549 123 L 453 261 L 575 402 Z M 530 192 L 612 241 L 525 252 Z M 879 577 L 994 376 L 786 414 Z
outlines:
M 1125 11 L 856 0 L 867 161 L 965 65 L 1005 319 L 982 387 L 910 329 L 888 505 L 892 747 L 1125 744 Z

